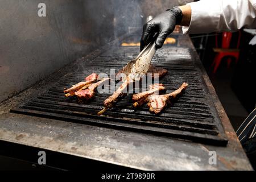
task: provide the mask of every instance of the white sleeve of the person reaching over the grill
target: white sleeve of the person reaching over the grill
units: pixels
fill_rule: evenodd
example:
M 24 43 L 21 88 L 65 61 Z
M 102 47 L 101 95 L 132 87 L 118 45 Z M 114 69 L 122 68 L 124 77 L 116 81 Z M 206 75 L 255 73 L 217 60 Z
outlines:
M 201 0 L 188 3 L 191 22 L 183 34 L 256 28 L 256 0 Z

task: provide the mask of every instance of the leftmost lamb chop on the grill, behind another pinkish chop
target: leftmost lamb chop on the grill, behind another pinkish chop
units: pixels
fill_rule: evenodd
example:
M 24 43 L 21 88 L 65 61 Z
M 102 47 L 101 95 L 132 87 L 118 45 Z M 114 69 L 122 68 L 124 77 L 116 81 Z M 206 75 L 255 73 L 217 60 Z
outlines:
M 85 81 L 81 81 L 76 85 L 73 85 L 71 88 L 64 90 L 65 97 L 69 97 L 69 96 L 73 96 L 75 95 L 75 92 L 78 90 L 84 90 L 86 88 L 88 88 L 88 86 L 90 84 L 92 84 L 93 82 L 97 81 L 97 74 L 96 73 L 92 73 L 91 75 L 89 75 L 88 77 L 85 78 Z

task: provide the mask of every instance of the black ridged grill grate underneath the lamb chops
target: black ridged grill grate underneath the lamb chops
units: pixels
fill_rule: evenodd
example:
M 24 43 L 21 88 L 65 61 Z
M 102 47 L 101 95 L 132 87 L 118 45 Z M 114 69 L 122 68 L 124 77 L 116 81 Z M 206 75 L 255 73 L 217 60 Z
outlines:
M 189 48 L 164 46 L 152 60 L 156 67 L 168 70 L 159 80 L 166 86 L 167 93 L 179 88 L 183 82 L 189 84 L 179 100 L 160 115 L 151 114 L 147 106 L 135 110 L 131 94 L 101 116 L 97 112 L 110 94 L 96 94 L 96 98 L 86 104 L 78 104 L 76 98 L 64 97 L 64 88 L 84 80 L 92 72 L 109 74 L 112 68 L 118 71 L 137 56 L 138 49 L 108 46 L 96 51 L 96 55 L 94 52 L 83 57 L 52 88 L 29 98 L 11 112 L 225 146 L 228 141 L 220 118 Z

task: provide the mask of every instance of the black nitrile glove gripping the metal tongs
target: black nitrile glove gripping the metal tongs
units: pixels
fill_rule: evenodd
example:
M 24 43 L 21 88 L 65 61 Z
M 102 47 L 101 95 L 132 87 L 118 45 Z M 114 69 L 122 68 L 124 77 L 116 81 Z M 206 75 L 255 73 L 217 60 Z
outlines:
M 155 43 L 156 47 L 161 48 L 164 40 L 174 31 L 175 25 L 179 24 L 181 19 L 182 11 L 179 7 L 173 7 L 144 24 L 141 38 L 141 51 L 144 46 L 152 41 L 155 33 L 158 33 Z

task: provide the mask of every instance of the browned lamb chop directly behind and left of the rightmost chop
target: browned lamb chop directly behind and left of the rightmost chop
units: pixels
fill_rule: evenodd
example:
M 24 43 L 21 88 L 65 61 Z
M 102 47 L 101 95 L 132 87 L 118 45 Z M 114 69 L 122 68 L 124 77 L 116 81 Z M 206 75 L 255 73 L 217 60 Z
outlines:
M 153 85 L 150 85 L 149 87 L 150 87 L 150 90 L 133 95 L 134 107 L 140 107 L 144 103 L 148 102 L 148 97 L 151 96 L 152 94 L 166 92 L 166 88 L 164 88 L 163 84 L 153 84 Z

